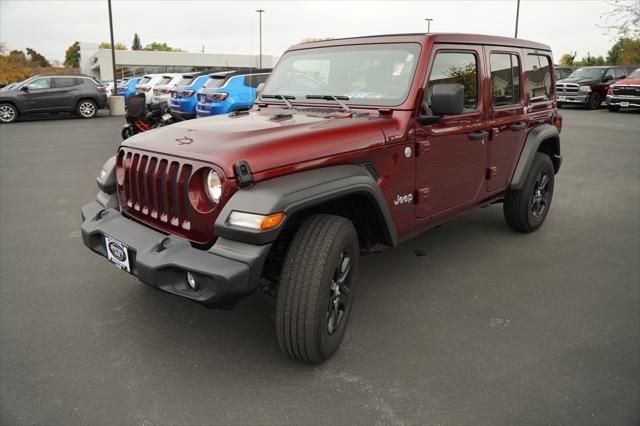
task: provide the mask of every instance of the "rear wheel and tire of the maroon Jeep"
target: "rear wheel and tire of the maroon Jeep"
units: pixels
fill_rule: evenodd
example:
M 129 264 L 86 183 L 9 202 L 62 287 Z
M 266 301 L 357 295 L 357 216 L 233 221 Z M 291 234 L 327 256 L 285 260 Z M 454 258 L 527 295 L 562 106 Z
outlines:
M 504 199 L 504 218 L 513 230 L 533 232 L 542 225 L 551 207 L 554 177 L 551 158 L 536 153 L 522 188 L 510 190 Z

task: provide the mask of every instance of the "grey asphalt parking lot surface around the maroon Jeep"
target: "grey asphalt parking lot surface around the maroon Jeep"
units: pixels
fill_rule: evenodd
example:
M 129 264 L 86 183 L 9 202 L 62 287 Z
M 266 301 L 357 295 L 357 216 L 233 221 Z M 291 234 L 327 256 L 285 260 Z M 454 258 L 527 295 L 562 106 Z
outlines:
M 267 296 L 209 310 L 85 249 L 122 118 L 0 126 L 0 423 L 638 424 L 640 114 L 562 114 L 543 228 L 492 206 L 365 258 L 315 367 Z

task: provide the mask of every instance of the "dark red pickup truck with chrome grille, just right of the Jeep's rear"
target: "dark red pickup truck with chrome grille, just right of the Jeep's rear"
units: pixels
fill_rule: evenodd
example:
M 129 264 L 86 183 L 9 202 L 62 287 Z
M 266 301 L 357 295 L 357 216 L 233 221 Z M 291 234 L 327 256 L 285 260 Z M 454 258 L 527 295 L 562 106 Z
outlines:
M 556 82 L 558 107 L 577 104 L 599 108 L 607 96 L 609 85 L 625 78 L 631 71 L 621 66 L 582 67 Z

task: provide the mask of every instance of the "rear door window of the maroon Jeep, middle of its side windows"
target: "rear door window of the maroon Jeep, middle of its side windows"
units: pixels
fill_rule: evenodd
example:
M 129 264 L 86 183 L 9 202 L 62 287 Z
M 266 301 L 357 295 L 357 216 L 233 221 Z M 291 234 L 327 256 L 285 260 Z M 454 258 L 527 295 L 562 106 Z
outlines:
M 492 53 L 491 91 L 493 105 L 517 105 L 520 103 L 520 63 L 511 53 Z

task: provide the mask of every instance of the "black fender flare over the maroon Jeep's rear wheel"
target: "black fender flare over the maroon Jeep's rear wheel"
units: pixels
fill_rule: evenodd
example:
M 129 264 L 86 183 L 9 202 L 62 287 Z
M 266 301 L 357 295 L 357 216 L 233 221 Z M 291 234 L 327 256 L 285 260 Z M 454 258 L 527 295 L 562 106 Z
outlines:
M 533 159 L 540 150 L 540 145 L 546 140 L 554 141 L 553 152 L 550 154 L 553 155 L 551 160 L 555 172 L 558 173 L 562 162 L 562 156 L 560 155 L 560 132 L 551 124 L 541 124 L 531 129 L 527 134 L 520 158 L 518 159 L 518 164 L 513 172 L 509 189 L 517 190 L 524 186 L 524 181 L 527 178 L 527 173 L 529 172 L 529 168 L 531 168 Z

